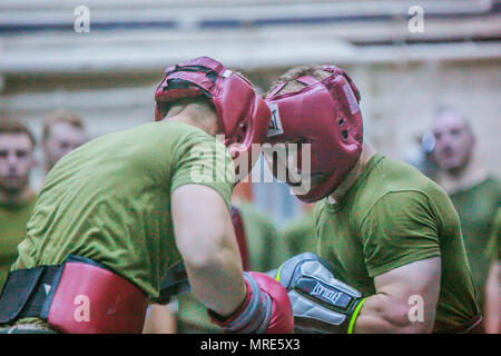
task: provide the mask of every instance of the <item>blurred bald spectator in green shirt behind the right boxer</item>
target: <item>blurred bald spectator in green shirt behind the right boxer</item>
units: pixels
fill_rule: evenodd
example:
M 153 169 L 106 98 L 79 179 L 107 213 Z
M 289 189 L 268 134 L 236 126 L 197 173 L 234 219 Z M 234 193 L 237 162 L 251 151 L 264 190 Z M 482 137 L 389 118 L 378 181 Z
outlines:
M 433 156 L 439 165 L 435 180 L 448 191 L 460 216 L 487 332 L 498 333 L 498 327 L 491 326 L 498 322 L 490 319 L 499 315 L 489 313 L 485 305 L 488 297 L 499 298 L 499 285 L 498 293 L 488 295 L 487 280 L 489 270 L 497 269 L 499 264 L 498 251 L 493 250 L 497 249 L 497 241 L 492 239 L 499 239 L 499 233 L 493 231 L 499 229 L 494 221 L 500 209 L 500 184 L 474 157 L 475 136 L 463 115 L 451 108 L 442 109 L 433 122 Z M 497 305 L 498 301 L 489 301 L 492 303 Z

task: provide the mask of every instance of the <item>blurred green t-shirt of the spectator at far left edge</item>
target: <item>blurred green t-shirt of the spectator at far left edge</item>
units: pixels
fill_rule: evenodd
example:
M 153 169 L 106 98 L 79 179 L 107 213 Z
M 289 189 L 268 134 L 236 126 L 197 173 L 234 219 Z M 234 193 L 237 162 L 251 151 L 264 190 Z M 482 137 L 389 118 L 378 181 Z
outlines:
M 36 199 L 37 196 L 33 194 L 18 205 L 0 202 L 0 290 L 6 283 L 10 266 L 18 257 L 18 245 L 24 237 L 26 224 Z

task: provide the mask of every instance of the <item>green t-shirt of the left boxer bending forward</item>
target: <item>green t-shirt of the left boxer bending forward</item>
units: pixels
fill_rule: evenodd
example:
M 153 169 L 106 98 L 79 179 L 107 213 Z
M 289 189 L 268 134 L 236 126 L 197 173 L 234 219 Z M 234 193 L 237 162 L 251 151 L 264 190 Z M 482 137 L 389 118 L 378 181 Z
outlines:
M 171 192 L 202 184 L 229 209 L 233 169 L 222 142 L 186 123 L 149 122 L 97 138 L 47 176 L 12 268 L 57 265 L 73 254 L 156 297 L 165 271 L 180 259 Z

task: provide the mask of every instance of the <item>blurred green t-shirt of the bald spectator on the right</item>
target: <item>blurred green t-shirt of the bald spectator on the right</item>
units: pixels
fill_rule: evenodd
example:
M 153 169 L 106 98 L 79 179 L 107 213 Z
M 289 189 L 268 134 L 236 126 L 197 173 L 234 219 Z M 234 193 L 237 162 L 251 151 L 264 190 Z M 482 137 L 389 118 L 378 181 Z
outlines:
M 451 200 L 458 211 L 463 231 L 464 247 L 470 263 L 473 283 L 477 288 L 477 297 L 480 306 L 483 306 L 485 296 L 485 281 L 489 267 L 492 263 L 495 238 L 495 214 L 500 208 L 500 184 L 492 177 L 487 178 L 477 186 L 451 194 Z

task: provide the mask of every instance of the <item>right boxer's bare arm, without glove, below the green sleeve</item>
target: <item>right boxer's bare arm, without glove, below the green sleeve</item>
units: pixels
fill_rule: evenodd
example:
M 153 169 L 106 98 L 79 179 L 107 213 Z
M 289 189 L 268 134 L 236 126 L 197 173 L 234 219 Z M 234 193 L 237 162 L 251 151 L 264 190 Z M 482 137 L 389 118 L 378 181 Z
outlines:
M 440 293 L 441 259 L 432 257 L 374 277 L 354 333 L 431 333 Z

